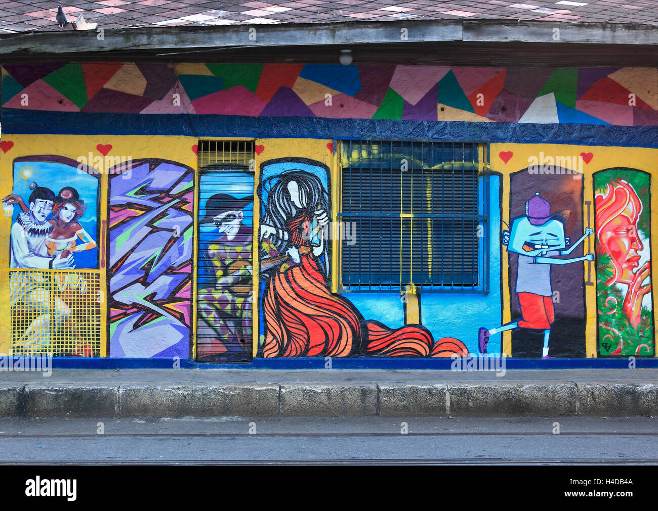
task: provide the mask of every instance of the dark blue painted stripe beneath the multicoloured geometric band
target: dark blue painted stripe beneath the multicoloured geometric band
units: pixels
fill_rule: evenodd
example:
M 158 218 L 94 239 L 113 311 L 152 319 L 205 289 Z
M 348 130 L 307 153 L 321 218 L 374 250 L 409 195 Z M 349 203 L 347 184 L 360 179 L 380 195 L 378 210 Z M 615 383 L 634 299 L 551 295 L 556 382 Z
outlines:
M 656 126 L 428 122 L 179 114 L 93 114 L 2 109 L 3 134 L 484 140 L 658 147 Z

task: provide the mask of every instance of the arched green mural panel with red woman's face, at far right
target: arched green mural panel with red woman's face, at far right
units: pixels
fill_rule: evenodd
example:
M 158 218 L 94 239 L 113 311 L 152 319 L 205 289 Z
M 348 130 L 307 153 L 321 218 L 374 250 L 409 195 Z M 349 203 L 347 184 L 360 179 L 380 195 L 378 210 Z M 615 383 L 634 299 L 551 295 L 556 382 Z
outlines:
M 654 353 L 649 180 L 649 174 L 630 169 L 594 175 L 601 355 Z

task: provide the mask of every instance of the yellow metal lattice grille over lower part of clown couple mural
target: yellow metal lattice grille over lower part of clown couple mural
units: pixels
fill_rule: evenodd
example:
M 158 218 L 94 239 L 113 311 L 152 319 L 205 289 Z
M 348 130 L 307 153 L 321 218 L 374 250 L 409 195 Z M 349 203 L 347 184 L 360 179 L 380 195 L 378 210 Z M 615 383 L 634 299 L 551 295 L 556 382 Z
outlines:
M 99 271 L 9 271 L 13 355 L 101 356 Z

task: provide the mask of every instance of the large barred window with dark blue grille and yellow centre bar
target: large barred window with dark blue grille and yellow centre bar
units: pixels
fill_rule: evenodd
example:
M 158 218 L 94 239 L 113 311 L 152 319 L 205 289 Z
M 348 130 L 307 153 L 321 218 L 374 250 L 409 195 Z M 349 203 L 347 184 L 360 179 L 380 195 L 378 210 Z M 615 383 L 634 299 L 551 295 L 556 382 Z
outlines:
M 488 292 L 486 144 L 339 146 L 341 290 Z

